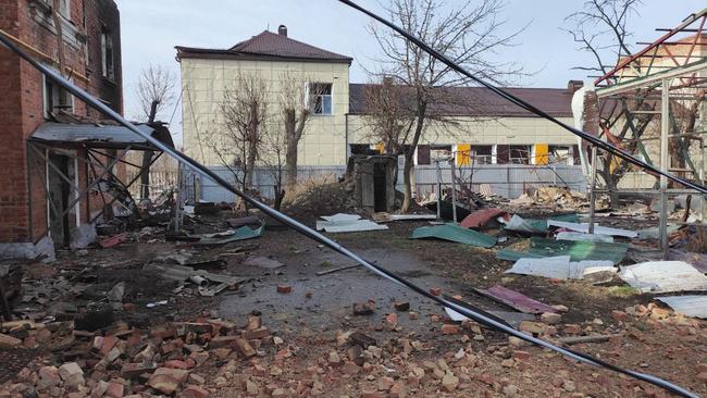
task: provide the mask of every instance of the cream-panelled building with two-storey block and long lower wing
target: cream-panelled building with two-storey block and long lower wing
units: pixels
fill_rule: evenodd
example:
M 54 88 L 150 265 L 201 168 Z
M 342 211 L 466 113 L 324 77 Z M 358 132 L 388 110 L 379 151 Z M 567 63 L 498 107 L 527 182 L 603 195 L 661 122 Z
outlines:
M 260 72 L 273 83 L 283 72 L 296 72 L 311 78 L 312 85 L 325 85 L 330 105 L 321 109 L 300 141 L 300 165 L 344 165 L 349 154 L 364 152 L 379 142 L 370 142 L 365 121 L 367 85 L 349 83 L 349 57 L 322 50 L 292 39 L 287 28 L 278 33 L 263 32 L 226 50 L 177 47 L 182 64 L 184 147 L 187 153 L 210 165 L 220 161 L 204 146 L 203 137 L 213 128 L 224 89 L 237 71 Z M 570 82 L 567 88 L 509 88 L 562 122 L 573 124 L 571 101 L 582 82 Z M 457 95 L 479 101 L 476 114 L 455 114 L 460 126 L 450 133 L 430 124 L 430 134 L 418 149 L 418 164 L 429 164 L 438 150 L 459 153 L 458 164 L 548 162 L 562 157 L 569 164 L 579 164 L 576 138 L 563 128 L 521 110 L 483 88 L 454 88 Z M 445 110 L 442 110 L 445 111 Z M 467 110 L 464 110 L 467 112 Z M 480 122 L 480 119 L 485 120 Z M 466 156 L 463 153 L 467 153 Z

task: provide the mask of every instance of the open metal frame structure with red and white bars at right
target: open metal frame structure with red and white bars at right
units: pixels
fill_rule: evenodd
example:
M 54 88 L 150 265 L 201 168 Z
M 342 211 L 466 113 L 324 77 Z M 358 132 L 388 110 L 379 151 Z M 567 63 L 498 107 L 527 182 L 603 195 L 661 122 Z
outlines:
M 659 166 L 662 173 L 675 173 L 684 178 L 704 185 L 705 141 L 703 135 L 707 132 L 695 127 L 695 120 L 704 109 L 704 98 L 707 90 L 707 9 L 690 15 L 679 26 L 667 32 L 662 37 L 647 43 L 641 51 L 622 58 L 617 66 L 595 80 L 596 94 L 599 99 L 600 130 L 603 139 L 621 148 L 640 153 L 644 160 L 653 164 L 646 142 L 659 140 Z M 618 112 L 618 113 L 616 113 Z M 680 124 L 692 115 L 692 124 Z M 696 113 L 696 114 L 695 114 Z M 619 115 L 612 125 L 606 123 L 605 116 Z M 644 136 L 644 132 L 656 127 L 656 119 L 660 120 L 659 137 Z M 704 117 L 704 116 L 703 116 Z M 704 121 L 703 121 L 704 124 Z M 617 137 L 616 128 L 622 128 L 623 134 Z M 683 130 L 684 129 L 684 130 Z M 629 135 L 630 134 L 630 135 Z M 698 142 L 698 150 L 691 151 L 691 145 Z M 592 173 L 590 177 L 591 199 L 594 203 L 599 192 L 615 195 L 627 194 L 622 189 L 597 189 L 597 148 L 592 150 Z M 680 167 L 672 166 L 671 158 L 678 159 Z M 610 170 L 613 159 L 608 156 L 605 167 Z M 608 162 L 608 163 L 607 163 Z M 606 170 L 606 169 L 605 169 Z M 653 174 L 652 174 L 653 175 Z M 677 195 L 697 194 L 691 189 L 673 189 L 668 178 L 659 178 L 657 189 L 637 189 L 631 192 L 659 195 L 660 197 L 660 246 L 663 258 L 669 256 L 668 241 L 668 198 Z M 618 187 L 618 185 L 617 185 Z M 705 198 L 703 197 L 703 203 Z M 704 207 L 704 204 L 703 204 Z M 702 213 L 702 209 L 700 209 Z M 591 229 L 594 227 L 594 206 L 591 208 Z M 699 223 L 697 223 L 699 224 Z

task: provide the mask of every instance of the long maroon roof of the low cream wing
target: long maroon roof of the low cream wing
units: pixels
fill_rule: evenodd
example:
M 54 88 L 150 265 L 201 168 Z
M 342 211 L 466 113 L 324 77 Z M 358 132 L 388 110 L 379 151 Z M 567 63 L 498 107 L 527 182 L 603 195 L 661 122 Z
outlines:
M 365 114 L 365 92 L 369 84 L 349 85 L 349 112 Z M 572 117 L 572 96 L 567 88 L 504 88 L 555 117 Z M 430 111 L 449 116 L 528 117 L 535 116 L 483 87 L 446 87 L 437 89 L 438 101 Z M 404 91 L 405 92 L 405 91 Z M 412 97 L 412 92 L 410 92 Z

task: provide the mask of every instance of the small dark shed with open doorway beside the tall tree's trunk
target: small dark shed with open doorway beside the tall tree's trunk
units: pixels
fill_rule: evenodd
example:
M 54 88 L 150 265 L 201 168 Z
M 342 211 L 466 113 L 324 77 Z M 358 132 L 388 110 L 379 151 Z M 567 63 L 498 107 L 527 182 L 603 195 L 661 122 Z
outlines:
M 347 179 L 354 185 L 357 207 L 372 212 L 395 210 L 397 158 L 355 154 L 349 158 Z

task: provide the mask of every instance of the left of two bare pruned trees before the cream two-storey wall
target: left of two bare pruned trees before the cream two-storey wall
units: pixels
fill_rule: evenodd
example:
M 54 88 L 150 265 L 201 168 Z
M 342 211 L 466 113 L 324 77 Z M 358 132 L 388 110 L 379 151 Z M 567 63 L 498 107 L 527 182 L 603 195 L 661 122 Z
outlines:
M 252 188 L 256 161 L 269 124 L 268 82 L 256 72 L 238 71 L 220 104 L 219 130 L 206 142 L 241 189 Z

